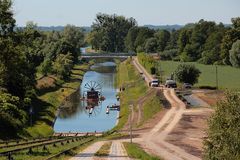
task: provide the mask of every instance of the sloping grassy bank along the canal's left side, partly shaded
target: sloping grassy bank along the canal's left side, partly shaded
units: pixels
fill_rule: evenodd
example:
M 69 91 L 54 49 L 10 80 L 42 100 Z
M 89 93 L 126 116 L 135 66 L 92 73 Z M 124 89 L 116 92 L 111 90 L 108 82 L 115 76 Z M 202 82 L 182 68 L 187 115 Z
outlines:
M 89 64 L 75 65 L 72 69 L 71 77 L 67 82 L 55 79 L 54 86 L 38 91 L 38 99 L 33 102 L 33 126 L 25 128 L 20 133 L 21 137 L 44 137 L 53 133 L 52 124 L 57 108 L 66 97 L 76 92 L 88 68 Z M 54 79 L 54 77 L 50 76 L 47 78 Z

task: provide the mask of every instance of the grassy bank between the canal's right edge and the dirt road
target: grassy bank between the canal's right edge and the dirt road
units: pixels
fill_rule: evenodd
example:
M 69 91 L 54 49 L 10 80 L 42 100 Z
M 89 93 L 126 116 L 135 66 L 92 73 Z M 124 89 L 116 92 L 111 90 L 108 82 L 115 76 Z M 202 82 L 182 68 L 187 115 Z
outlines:
M 119 123 L 114 129 L 121 129 L 128 120 L 129 105 L 136 104 L 138 98 L 146 93 L 147 86 L 130 60 L 120 63 L 117 71 L 117 86 L 124 87 L 125 91 L 120 93 L 121 111 Z

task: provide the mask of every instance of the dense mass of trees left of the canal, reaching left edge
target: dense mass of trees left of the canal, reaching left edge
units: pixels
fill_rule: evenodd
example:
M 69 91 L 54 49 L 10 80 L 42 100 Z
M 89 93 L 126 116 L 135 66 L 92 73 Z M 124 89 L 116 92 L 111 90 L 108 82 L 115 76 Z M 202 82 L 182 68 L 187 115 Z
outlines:
M 10 0 L 0 0 L 0 136 L 6 133 L 5 138 L 29 125 L 37 78 L 54 74 L 66 81 L 84 43 L 82 29 L 71 25 L 63 31 L 39 31 L 33 22 L 17 28 L 11 7 Z

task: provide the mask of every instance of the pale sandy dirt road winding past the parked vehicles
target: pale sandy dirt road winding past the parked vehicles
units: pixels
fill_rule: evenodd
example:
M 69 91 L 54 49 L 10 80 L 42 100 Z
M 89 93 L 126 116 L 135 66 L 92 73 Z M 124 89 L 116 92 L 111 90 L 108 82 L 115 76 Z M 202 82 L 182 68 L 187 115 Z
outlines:
M 152 80 L 151 75 L 139 64 L 137 58 L 134 58 L 133 64 L 139 72 L 144 74 L 147 83 Z M 186 106 L 175 95 L 173 89 L 164 89 L 164 96 L 170 102 L 171 109 L 150 130 L 149 133 L 142 134 L 140 138 L 135 141 L 140 143 L 147 151 L 159 155 L 166 160 L 200 160 L 199 157 L 194 156 L 186 152 L 181 147 L 166 141 L 170 132 L 182 118 L 182 115 L 186 110 Z

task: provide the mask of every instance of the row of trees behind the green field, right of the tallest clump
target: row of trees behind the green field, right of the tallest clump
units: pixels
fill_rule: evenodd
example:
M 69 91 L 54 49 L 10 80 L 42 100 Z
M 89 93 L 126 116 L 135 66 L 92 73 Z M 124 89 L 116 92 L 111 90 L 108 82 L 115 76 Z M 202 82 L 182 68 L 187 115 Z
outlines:
M 222 23 L 200 20 L 171 32 L 134 27 L 129 30 L 125 44 L 134 52 L 160 53 L 165 60 L 238 67 L 239 21 L 240 18 L 233 18 L 232 27 L 225 27 Z

